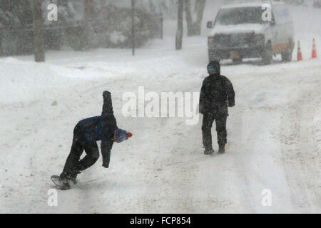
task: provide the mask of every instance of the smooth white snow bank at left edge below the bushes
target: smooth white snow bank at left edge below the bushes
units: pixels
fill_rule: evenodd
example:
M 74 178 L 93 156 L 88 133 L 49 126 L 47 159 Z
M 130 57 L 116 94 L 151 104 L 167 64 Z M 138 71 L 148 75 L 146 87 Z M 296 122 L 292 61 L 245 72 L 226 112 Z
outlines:
M 55 90 L 74 86 L 83 76 L 81 72 L 49 63 L 19 61 L 16 58 L 0 59 L 1 104 L 30 102 Z

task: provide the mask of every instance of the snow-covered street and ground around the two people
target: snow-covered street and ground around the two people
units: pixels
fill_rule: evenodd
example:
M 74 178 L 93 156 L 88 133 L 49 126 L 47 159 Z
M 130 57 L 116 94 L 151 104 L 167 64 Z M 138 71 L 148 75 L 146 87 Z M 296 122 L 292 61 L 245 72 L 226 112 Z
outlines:
M 185 125 L 183 118 L 122 115 L 123 93 L 138 86 L 200 90 L 207 40 L 185 38 L 174 51 L 173 21 L 163 41 L 134 58 L 111 49 L 50 51 L 41 64 L 32 56 L 0 58 L 0 212 L 320 213 L 321 58 L 309 58 L 313 37 L 321 51 L 321 10 L 291 11 L 304 61 L 222 66 L 236 92 L 225 155 L 203 155 L 202 117 Z M 103 90 L 113 95 L 118 126 L 133 138 L 114 145 L 108 170 L 98 160 L 49 207 L 50 176 L 61 172 L 78 120 L 100 115 Z M 261 203 L 265 189 L 271 207 Z

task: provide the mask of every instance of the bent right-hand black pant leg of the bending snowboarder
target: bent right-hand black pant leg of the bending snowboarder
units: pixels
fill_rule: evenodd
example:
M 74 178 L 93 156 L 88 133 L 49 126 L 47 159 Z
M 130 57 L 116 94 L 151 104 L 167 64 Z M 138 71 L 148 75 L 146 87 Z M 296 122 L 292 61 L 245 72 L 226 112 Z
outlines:
M 95 164 L 99 158 L 99 150 L 97 142 L 86 142 L 85 145 L 86 156 L 79 162 L 80 170 L 86 170 L 91 165 Z

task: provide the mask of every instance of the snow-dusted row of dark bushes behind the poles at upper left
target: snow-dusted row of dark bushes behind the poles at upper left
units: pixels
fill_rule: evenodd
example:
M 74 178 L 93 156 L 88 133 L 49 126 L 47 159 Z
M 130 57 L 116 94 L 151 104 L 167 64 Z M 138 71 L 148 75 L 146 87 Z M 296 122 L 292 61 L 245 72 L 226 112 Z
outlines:
M 58 21 L 48 21 L 49 4 L 57 4 Z M 149 0 L 136 1 L 136 46 L 142 46 L 149 38 L 159 37 L 161 19 L 156 13 L 161 11 L 161 6 L 169 5 Z M 46 48 L 131 47 L 131 1 L 93 0 L 91 7 L 91 15 L 86 17 L 83 0 L 42 1 Z M 32 11 L 32 0 L 0 1 L 0 54 L 33 52 Z

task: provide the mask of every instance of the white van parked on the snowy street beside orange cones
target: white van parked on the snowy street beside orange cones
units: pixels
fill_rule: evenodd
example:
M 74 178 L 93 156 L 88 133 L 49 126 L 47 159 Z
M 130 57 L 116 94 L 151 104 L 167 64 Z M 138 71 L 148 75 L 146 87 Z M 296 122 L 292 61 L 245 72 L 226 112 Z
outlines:
M 270 17 L 266 20 L 266 6 Z M 264 16 L 263 16 L 264 14 Z M 272 56 L 282 55 L 282 61 L 292 60 L 294 31 L 290 12 L 285 4 L 248 3 L 223 6 L 215 21 L 208 21 L 210 61 L 231 58 L 235 62 L 243 58 L 262 58 L 270 64 Z

